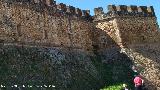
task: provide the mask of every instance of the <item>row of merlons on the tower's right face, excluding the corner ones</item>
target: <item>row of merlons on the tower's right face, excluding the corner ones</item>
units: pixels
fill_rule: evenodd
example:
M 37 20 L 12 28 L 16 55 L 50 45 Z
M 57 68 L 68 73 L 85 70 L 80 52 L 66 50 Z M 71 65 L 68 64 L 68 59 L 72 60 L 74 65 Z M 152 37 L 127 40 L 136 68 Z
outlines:
M 127 16 L 142 16 L 142 17 L 154 17 L 154 9 L 153 6 L 126 6 L 126 5 L 109 5 L 108 6 L 109 12 L 114 12 L 121 15 L 127 15 Z

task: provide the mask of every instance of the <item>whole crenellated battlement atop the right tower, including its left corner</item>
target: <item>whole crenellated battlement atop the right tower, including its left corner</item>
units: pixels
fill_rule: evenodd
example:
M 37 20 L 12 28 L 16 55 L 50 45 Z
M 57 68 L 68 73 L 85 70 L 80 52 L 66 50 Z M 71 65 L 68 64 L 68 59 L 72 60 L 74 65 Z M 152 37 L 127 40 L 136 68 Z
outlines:
M 104 13 L 102 7 L 94 9 L 95 19 L 101 20 L 118 16 L 155 17 L 153 6 L 126 6 L 108 5 L 108 12 Z

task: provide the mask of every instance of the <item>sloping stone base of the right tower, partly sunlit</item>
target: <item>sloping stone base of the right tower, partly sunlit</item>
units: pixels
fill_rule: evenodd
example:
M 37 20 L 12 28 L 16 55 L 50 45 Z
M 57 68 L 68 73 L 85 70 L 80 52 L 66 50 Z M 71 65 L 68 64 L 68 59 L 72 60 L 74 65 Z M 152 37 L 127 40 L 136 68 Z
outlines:
M 123 49 L 124 53 L 135 62 L 149 90 L 158 90 L 160 87 L 160 50 L 158 47 L 159 44 L 141 44 Z

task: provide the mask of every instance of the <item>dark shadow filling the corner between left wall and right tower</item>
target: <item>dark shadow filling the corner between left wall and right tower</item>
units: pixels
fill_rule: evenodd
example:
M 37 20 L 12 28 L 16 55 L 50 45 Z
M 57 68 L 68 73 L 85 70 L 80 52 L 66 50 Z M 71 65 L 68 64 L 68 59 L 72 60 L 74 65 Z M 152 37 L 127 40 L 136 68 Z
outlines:
M 133 79 L 136 72 L 132 70 L 132 66 L 135 65 L 135 62 L 125 53 L 121 52 L 121 47 L 109 35 L 107 35 L 105 31 L 100 29 L 95 30 L 95 36 L 93 37 L 93 52 L 96 59 L 93 63 L 100 72 L 103 81 L 101 89 L 127 84 L 129 89 L 134 90 Z M 106 43 L 101 43 L 104 42 L 104 40 L 101 41 L 101 39 L 99 39 L 101 36 L 106 37 Z M 142 52 L 140 52 L 140 54 L 141 53 Z M 145 82 L 150 83 L 147 79 L 143 79 Z M 150 85 L 153 86 L 152 83 L 150 83 Z

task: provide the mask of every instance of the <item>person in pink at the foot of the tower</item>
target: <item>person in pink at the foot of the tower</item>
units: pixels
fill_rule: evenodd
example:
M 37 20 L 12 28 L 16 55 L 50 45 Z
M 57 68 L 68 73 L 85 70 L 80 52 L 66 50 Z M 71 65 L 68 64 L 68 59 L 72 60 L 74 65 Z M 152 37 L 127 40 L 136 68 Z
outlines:
M 144 80 L 140 75 L 136 75 L 134 78 L 135 90 L 142 90 Z

